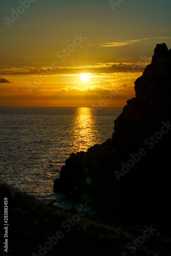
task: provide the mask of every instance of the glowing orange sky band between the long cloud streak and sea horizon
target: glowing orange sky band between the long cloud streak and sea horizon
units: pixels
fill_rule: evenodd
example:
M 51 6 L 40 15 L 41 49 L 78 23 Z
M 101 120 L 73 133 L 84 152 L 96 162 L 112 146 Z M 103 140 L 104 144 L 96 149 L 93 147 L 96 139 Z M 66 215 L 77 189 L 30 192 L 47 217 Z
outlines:
M 88 81 L 82 81 L 87 74 Z M 142 73 L 65 74 L 51 76 L 4 76 L 4 106 L 123 106 L 135 96 L 134 81 Z M 25 82 L 23 82 L 25 80 Z

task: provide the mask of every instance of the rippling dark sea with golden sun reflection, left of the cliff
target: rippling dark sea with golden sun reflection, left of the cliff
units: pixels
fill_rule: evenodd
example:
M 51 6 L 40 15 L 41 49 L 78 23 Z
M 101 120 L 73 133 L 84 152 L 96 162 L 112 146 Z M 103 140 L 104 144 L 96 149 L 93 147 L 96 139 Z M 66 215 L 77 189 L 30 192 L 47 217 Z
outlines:
M 111 138 L 122 108 L 0 107 L 0 181 L 63 208 L 53 181 L 72 152 Z

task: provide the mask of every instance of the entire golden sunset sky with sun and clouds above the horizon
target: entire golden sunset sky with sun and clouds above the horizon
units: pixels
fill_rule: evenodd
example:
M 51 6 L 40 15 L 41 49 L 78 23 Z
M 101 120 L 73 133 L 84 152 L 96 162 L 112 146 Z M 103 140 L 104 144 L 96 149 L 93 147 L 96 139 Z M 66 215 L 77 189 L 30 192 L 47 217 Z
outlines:
M 1 0 L 1 106 L 124 106 L 156 44 L 171 48 L 170 0 Z

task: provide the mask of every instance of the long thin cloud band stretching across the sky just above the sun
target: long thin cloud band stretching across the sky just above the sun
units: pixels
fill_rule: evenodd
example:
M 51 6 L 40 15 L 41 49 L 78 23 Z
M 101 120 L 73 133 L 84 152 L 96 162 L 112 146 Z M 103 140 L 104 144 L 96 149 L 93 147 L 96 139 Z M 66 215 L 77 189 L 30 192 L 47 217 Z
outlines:
M 127 62 L 104 62 L 95 63 L 95 65 L 84 65 L 77 67 L 58 67 L 57 69 L 50 69 L 49 67 L 23 67 L 20 70 L 9 69 L 1 70 L 0 75 L 16 75 L 16 76 L 70 76 L 70 75 L 81 75 L 84 73 L 94 75 L 105 75 L 119 72 L 143 72 L 144 68 L 151 62 L 152 58 L 143 56 L 139 60 L 132 60 Z

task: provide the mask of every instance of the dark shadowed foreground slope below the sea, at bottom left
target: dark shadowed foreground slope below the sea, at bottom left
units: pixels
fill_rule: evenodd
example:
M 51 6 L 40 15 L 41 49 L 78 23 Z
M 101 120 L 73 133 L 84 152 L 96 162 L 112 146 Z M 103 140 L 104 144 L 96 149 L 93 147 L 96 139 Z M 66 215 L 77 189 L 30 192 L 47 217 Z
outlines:
M 121 255 L 134 239 L 121 228 L 89 219 L 88 205 L 73 215 L 22 192 L 16 191 L 12 197 L 6 184 L 0 188 L 1 198 L 8 198 L 9 216 L 8 253 L 1 250 L 0 255 Z M 1 220 L 3 223 L 2 213 Z M 134 255 L 154 254 L 142 246 Z

